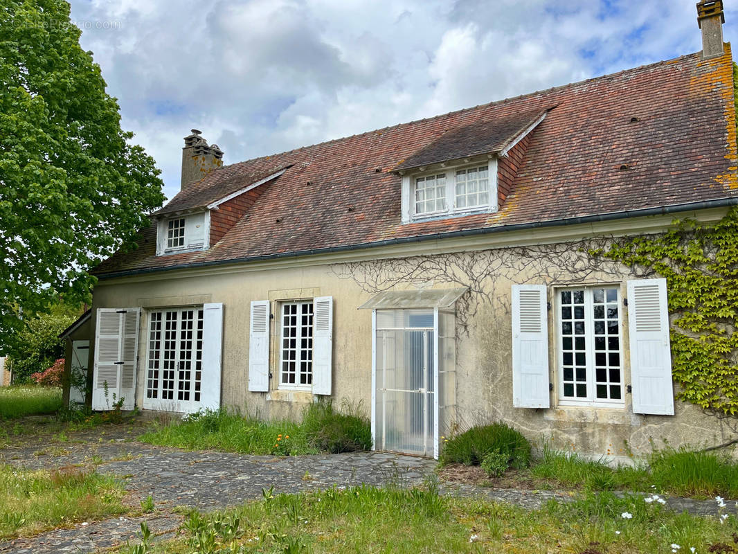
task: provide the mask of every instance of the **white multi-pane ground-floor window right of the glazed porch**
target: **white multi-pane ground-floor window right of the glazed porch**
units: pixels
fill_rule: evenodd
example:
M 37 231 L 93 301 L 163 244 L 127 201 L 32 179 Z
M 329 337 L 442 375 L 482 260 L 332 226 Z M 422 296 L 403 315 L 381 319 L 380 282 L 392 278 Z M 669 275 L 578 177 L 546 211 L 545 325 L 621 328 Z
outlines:
M 618 287 L 559 291 L 562 400 L 623 403 Z

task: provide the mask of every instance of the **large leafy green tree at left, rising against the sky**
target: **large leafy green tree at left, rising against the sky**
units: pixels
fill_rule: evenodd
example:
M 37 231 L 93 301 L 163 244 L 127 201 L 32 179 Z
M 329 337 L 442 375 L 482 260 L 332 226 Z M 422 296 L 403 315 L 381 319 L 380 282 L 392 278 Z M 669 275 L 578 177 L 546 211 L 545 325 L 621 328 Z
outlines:
M 164 199 L 80 33 L 66 1 L 0 0 L 0 352 L 58 295 L 85 299 Z

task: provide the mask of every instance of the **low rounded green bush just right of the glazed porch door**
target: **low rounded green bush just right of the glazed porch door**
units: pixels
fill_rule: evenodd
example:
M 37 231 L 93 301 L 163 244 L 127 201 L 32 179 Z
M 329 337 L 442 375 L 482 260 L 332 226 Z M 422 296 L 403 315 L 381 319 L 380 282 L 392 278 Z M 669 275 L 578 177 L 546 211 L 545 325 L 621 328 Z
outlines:
M 531 443 L 505 423 L 475 426 L 452 437 L 444 443 L 440 462 L 480 465 L 484 456 L 493 451 L 507 456 L 512 468 L 527 468 L 531 463 Z

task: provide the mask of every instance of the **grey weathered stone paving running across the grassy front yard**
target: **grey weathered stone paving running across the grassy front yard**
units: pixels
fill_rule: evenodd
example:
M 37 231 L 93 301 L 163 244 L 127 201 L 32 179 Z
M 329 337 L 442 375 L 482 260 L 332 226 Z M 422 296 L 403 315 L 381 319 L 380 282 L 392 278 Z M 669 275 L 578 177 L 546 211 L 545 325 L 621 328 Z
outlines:
M 135 435 L 133 435 L 135 436 Z M 77 524 L 32 538 L 0 541 L 0 553 L 92 553 L 125 541 L 134 543 L 140 522 L 145 519 L 157 538 L 176 533 L 182 516 L 174 507 L 195 507 L 209 511 L 235 506 L 262 497 L 262 489 L 275 493 L 325 489 L 351 485 L 420 485 L 432 475 L 435 461 L 413 456 L 378 452 L 319 456 L 246 456 L 224 452 L 188 452 L 137 442 L 125 426 L 75 434 L 65 441 L 7 446 L 0 450 L 0 462 L 24 468 L 59 468 L 65 465 L 97 465 L 100 473 L 125 477 L 131 505 L 148 495 L 154 497 L 156 514 L 145 517 L 115 517 L 105 521 Z M 441 492 L 457 496 L 480 496 L 534 509 L 549 499 L 568 502 L 570 493 L 490 489 L 445 483 Z M 675 510 L 700 515 L 717 515 L 714 501 L 667 499 Z

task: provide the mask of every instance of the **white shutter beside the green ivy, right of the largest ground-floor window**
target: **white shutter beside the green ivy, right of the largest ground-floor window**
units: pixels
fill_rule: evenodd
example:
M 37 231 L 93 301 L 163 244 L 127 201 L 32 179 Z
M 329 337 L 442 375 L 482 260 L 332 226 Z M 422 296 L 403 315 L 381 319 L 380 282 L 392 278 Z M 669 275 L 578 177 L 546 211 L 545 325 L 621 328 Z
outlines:
M 628 281 L 628 326 L 633 411 L 674 415 L 666 279 Z

